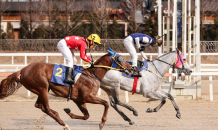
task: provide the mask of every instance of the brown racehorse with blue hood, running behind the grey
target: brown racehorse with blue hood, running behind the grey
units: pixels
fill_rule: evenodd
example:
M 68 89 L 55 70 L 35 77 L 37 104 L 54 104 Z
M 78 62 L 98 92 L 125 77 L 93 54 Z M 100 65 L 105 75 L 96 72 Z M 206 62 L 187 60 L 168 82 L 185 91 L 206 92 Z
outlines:
M 115 68 L 125 71 L 127 74 L 132 73 L 132 67 L 123 59 L 123 57 L 112 50 L 108 50 L 109 53 L 100 57 L 94 66 L 102 67 L 90 67 L 84 69 L 80 77 L 76 77 L 77 82 L 72 88 L 71 100 L 73 100 L 79 107 L 84 116 L 78 116 L 70 113 L 70 109 L 64 109 L 64 111 L 72 119 L 89 118 L 89 113 L 86 108 L 86 103 L 101 104 L 104 105 L 104 113 L 102 121 L 99 124 L 99 128 L 102 129 L 107 118 L 109 104 L 107 101 L 96 97 L 96 93 L 100 87 L 100 81 L 103 79 L 109 67 L 113 64 L 117 64 Z M 58 112 L 50 109 L 48 92 L 52 90 L 57 96 L 68 98 L 69 86 L 64 86 L 51 82 L 52 72 L 54 64 L 48 64 L 43 62 L 33 62 L 24 67 L 18 72 L 12 73 L 6 79 L 2 80 L 0 84 L 0 99 L 8 97 L 15 93 L 22 85 L 31 92 L 38 95 L 38 99 L 35 103 L 35 107 L 41 109 L 44 113 L 48 114 L 60 125 L 64 126 L 64 129 L 70 130 L 70 127 L 61 120 Z

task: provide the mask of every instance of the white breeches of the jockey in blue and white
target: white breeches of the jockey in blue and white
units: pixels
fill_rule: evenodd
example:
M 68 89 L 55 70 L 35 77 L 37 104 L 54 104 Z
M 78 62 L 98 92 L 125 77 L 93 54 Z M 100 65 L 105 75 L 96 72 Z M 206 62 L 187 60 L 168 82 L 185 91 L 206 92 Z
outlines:
M 137 52 L 134 46 L 134 41 L 131 36 L 128 36 L 124 39 L 124 46 L 126 47 L 127 51 L 129 52 L 131 58 L 130 61 L 132 62 L 132 66 L 137 66 Z

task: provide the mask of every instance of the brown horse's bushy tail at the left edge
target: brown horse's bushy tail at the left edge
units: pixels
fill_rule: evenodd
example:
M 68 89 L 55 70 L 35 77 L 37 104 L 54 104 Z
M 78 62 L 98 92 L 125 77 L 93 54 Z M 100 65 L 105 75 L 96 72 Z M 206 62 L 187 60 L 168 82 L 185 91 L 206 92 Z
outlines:
M 0 84 L 0 99 L 4 99 L 13 93 L 22 86 L 20 83 L 20 71 L 12 73 L 6 79 L 3 79 Z

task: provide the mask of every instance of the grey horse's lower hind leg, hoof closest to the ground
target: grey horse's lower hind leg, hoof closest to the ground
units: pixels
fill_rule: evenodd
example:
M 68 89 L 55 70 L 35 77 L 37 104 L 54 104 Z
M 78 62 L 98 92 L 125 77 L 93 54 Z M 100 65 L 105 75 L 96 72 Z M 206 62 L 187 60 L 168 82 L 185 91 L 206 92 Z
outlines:
M 111 106 L 120 114 L 120 116 L 125 120 L 128 121 L 130 125 L 135 124 L 133 121 L 131 121 L 123 112 L 122 110 L 117 106 L 117 104 L 114 102 L 113 97 L 110 97 L 110 104 Z

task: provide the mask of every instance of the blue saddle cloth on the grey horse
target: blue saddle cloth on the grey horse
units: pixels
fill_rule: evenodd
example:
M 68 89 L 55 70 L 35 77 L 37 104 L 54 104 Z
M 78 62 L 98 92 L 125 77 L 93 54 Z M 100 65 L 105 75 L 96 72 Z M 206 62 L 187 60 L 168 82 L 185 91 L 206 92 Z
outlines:
M 132 65 L 132 62 L 128 62 L 130 65 Z M 137 61 L 137 68 L 138 68 L 138 71 L 141 72 L 142 70 L 145 70 L 145 69 L 148 69 L 148 62 L 147 61 L 140 61 L 138 60 Z M 134 76 L 132 75 L 126 75 L 125 73 L 122 73 L 122 76 L 125 76 L 125 77 L 128 77 L 128 78 L 131 78 L 131 79 L 134 79 Z

